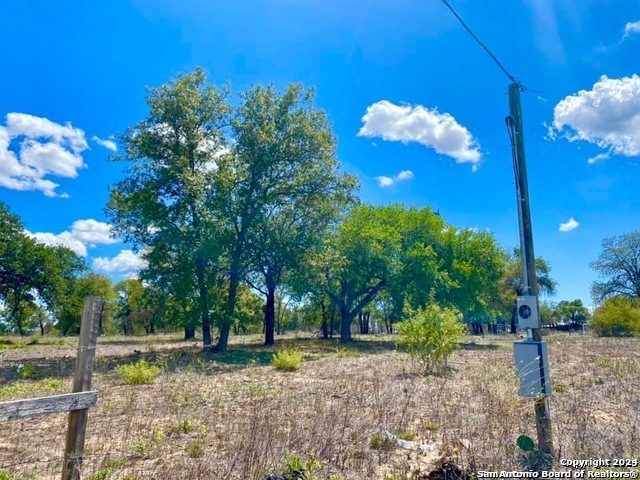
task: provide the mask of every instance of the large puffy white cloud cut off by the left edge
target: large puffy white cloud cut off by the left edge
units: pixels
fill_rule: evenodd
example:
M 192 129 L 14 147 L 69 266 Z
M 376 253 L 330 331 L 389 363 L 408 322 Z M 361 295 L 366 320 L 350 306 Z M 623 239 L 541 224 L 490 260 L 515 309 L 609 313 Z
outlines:
M 86 167 L 81 154 L 87 148 L 84 132 L 70 123 L 9 113 L 6 125 L 0 126 L 0 186 L 68 198 L 56 192 L 59 184 L 45 177 L 76 178 Z

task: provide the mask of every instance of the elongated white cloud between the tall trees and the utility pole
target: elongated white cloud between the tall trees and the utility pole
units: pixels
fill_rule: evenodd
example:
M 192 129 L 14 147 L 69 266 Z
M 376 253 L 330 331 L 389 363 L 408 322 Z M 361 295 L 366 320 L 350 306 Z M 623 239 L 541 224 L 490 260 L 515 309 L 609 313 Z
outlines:
M 480 162 L 480 151 L 469 130 L 448 113 L 422 105 L 394 105 L 387 100 L 367 107 L 359 137 L 382 138 L 404 144 L 416 142 L 458 163 Z

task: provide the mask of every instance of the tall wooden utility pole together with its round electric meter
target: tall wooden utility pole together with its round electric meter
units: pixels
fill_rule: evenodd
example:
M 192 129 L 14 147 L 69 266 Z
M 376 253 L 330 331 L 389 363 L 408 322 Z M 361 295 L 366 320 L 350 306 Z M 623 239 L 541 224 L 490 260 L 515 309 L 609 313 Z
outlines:
M 542 341 L 542 323 L 538 316 L 538 281 L 536 277 L 535 255 L 533 251 L 533 228 L 531 226 L 531 210 L 529 205 L 529 185 L 527 182 L 527 167 L 524 154 L 524 133 L 522 129 L 522 107 L 520 104 L 521 85 L 514 82 L 509 85 L 509 113 L 507 126 L 512 134 L 513 161 L 516 177 L 516 191 L 518 200 L 518 217 L 520 224 L 520 255 L 522 257 L 522 273 L 524 295 L 518 299 L 518 319 L 521 327 L 527 328 L 527 341 L 516 342 L 516 364 L 518 364 L 519 346 L 537 347 L 538 356 L 535 357 L 533 376 L 541 385 L 535 398 L 536 429 L 538 446 L 542 453 L 553 455 L 553 438 L 551 434 L 551 416 L 549 412 L 550 379 L 549 366 L 546 355 L 546 344 Z M 527 304 L 529 302 L 529 304 Z M 520 349 L 524 351 L 524 349 Z M 543 354 L 544 352 L 544 354 Z M 547 363 L 547 365 L 545 365 Z M 531 373 L 531 372 L 530 372 Z M 526 373 L 525 375 L 528 375 Z M 546 376 L 546 378 L 545 378 Z M 529 377 L 530 379 L 531 377 Z M 524 380 L 521 377 L 521 382 Z M 524 386 L 522 387 L 524 388 Z M 522 393 L 521 393 L 522 394 Z M 533 396 L 533 395 L 527 395 Z

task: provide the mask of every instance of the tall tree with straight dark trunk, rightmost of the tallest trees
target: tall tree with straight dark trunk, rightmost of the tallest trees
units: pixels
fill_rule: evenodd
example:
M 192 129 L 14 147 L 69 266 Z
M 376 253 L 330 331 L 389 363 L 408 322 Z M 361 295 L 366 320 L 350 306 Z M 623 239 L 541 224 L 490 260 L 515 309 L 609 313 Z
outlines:
M 238 154 L 261 165 L 263 205 L 255 205 L 247 236 L 250 272 L 266 297 L 265 345 L 273 345 L 276 288 L 302 266 L 349 202 L 356 179 L 339 172 L 335 139 L 326 116 L 313 108 L 313 95 L 289 85 L 279 95 L 256 87 L 235 124 Z M 262 288 L 261 288 L 262 287 Z

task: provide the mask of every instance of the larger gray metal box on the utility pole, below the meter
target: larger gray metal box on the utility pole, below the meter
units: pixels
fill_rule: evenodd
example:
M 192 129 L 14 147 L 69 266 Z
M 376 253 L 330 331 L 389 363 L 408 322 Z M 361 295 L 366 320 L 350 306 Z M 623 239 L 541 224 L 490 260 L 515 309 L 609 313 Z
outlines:
M 534 340 L 514 342 L 513 353 L 520 381 L 520 396 L 550 395 L 551 376 L 547 343 Z

